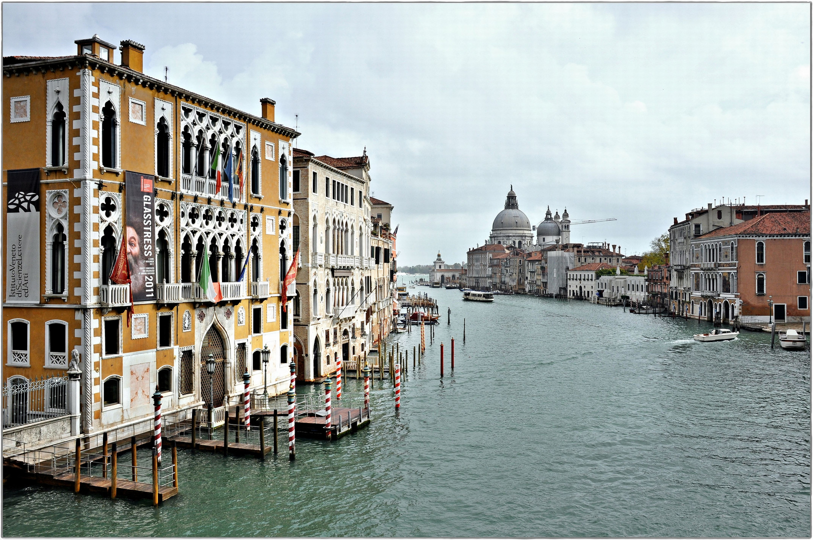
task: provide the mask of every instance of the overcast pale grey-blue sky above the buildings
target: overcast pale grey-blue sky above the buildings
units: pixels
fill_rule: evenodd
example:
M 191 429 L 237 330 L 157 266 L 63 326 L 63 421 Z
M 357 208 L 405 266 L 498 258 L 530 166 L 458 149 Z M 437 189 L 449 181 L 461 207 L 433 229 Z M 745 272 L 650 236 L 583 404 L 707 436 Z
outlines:
M 513 184 L 573 242 L 646 250 L 673 216 L 810 195 L 809 4 L 14 4 L 2 53 L 146 46 L 145 71 L 371 159 L 401 264 L 461 262 Z M 116 61 L 119 61 L 118 54 Z

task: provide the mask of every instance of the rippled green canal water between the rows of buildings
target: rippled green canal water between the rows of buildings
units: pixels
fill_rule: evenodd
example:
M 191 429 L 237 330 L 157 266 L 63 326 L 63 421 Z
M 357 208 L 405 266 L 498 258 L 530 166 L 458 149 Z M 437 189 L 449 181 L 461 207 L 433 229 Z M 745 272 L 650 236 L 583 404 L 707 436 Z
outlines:
M 420 368 L 420 332 L 393 340 L 410 351 L 400 412 L 376 380 L 372 425 L 300 440 L 293 463 L 179 451 L 180 494 L 159 508 L 6 486 L 3 534 L 811 535 L 808 353 L 769 333 L 694 342 L 706 323 L 620 307 L 410 292 L 437 298 L 441 324 Z

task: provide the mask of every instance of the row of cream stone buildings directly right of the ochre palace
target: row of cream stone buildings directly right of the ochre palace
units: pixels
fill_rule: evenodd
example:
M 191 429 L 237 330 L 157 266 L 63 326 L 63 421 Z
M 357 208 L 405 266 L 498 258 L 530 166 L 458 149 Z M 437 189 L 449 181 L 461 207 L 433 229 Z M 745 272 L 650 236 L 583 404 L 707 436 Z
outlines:
M 366 152 L 333 158 L 295 148 L 293 168 L 293 249 L 301 248 L 302 260 L 294 347 L 298 377 L 318 381 L 336 371 L 337 359 L 368 351 L 379 326 L 389 330 L 386 310 L 382 315 L 371 307 L 388 293 L 380 281 L 389 281 L 392 242 L 382 239 L 380 219 L 371 217 L 377 199 L 368 195 Z M 378 203 L 389 223 L 392 205 Z

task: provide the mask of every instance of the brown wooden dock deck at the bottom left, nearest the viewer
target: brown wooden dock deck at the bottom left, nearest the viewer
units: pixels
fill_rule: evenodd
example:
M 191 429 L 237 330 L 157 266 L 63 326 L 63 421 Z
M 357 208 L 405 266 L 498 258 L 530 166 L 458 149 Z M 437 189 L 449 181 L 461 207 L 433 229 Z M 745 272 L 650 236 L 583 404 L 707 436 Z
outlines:
M 52 475 L 50 472 L 43 470 L 28 472 L 25 470 L 17 471 L 13 474 L 15 479 L 25 481 L 28 483 L 42 484 L 45 486 L 56 486 L 73 490 L 76 482 L 76 476 L 73 472 L 63 472 L 61 474 Z M 150 479 L 151 480 L 151 479 Z M 79 492 L 101 494 L 110 497 L 111 481 L 109 478 L 89 477 L 81 475 L 79 478 Z M 152 483 L 134 482 L 118 478 L 115 482 L 115 496 L 124 497 L 127 499 L 149 499 L 153 498 Z M 158 502 L 174 497 L 178 494 L 178 488 L 175 486 L 159 486 Z

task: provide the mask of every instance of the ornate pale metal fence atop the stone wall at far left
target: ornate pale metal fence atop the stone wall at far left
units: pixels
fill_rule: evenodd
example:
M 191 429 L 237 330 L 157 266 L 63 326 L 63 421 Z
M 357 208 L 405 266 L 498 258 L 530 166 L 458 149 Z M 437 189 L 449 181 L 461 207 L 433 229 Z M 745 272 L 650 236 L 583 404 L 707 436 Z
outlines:
M 69 414 L 67 376 L 39 377 L 31 381 L 12 377 L 10 381 L 2 390 L 4 428 Z

